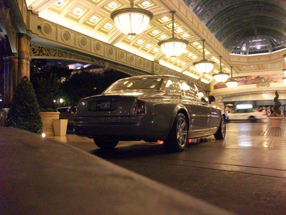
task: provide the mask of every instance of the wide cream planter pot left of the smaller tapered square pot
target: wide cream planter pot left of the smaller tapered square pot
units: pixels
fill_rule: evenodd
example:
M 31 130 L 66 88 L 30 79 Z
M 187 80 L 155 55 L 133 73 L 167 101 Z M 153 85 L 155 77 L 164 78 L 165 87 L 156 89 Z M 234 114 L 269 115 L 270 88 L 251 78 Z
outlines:
M 58 120 L 59 114 L 59 112 L 40 112 L 43 122 L 43 133 L 46 136 L 55 136 L 53 120 Z

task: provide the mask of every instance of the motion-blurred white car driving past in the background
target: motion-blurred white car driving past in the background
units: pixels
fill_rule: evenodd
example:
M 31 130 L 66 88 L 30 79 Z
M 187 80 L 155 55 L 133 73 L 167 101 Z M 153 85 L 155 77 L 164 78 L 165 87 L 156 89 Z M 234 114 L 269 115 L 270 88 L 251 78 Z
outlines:
M 229 120 L 250 120 L 251 122 L 255 122 L 256 120 L 266 119 L 268 118 L 267 113 L 265 111 L 257 112 L 252 110 L 251 108 L 238 108 L 234 111 L 227 114 Z

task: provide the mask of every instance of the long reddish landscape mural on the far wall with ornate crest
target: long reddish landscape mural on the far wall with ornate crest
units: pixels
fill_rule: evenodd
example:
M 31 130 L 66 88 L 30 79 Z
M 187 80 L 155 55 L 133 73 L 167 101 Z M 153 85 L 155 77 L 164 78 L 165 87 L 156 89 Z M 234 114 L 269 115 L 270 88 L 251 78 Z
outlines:
M 283 83 L 282 78 L 285 75 L 273 74 L 273 75 L 263 75 L 263 76 L 241 76 L 233 77 L 235 81 L 238 81 L 238 86 L 256 84 L 257 87 L 269 86 L 271 83 Z M 215 89 L 221 89 L 227 87 L 225 82 L 219 82 L 214 85 Z

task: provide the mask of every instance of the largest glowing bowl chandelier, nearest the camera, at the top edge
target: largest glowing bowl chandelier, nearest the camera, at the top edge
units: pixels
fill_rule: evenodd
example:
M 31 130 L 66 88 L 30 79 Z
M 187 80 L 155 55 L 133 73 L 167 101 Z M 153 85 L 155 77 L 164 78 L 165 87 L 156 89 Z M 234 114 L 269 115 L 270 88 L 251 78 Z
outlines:
M 143 32 L 153 18 L 153 13 L 142 8 L 134 8 L 134 0 L 130 0 L 130 8 L 113 11 L 110 18 L 124 34 L 136 35 Z

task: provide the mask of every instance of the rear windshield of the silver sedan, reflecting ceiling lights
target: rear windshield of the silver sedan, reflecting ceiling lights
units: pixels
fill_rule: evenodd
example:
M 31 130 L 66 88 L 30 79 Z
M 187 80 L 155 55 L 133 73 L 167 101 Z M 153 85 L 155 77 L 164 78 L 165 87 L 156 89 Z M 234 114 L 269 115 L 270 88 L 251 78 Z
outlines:
M 122 80 L 115 82 L 108 90 L 115 91 L 115 90 L 124 90 L 124 89 L 160 89 L 162 83 L 162 78 L 137 78 L 137 79 L 130 79 L 130 80 Z

